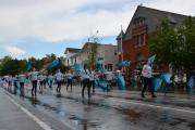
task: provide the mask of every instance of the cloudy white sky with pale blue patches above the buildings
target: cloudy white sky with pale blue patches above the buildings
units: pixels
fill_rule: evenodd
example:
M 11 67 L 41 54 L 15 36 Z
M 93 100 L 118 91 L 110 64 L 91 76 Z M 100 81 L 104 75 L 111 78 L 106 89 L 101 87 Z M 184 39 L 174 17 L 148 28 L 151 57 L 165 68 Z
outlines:
M 194 0 L 0 0 L 0 57 L 63 55 L 96 35 L 115 44 L 138 4 L 195 16 Z

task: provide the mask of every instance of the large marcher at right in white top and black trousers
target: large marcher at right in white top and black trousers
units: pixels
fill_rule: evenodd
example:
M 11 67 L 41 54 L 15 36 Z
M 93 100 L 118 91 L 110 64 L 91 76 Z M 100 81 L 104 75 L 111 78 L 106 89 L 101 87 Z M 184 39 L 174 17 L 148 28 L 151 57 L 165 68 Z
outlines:
M 150 61 L 147 61 L 147 64 L 144 65 L 143 70 L 142 70 L 142 76 L 143 76 L 143 80 L 144 80 L 144 88 L 142 90 L 142 98 L 145 98 L 144 93 L 147 89 L 147 87 L 149 87 L 150 91 L 151 91 L 151 98 L 156 98 L 155 95 L 155 90 L 153 87 L 153 73 L 151 73 L 151 66 L 150 66 Z

